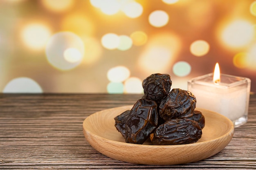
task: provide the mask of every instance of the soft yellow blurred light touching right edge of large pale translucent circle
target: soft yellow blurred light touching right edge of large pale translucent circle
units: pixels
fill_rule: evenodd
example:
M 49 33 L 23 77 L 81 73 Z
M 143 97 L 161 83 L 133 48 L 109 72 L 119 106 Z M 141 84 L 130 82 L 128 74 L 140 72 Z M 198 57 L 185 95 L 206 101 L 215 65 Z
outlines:
M 92 64 L 97 62 L 102 54 L 102 46 L 98 39 L 92 37 L 83 38 L 85 44 L 84 63 Z

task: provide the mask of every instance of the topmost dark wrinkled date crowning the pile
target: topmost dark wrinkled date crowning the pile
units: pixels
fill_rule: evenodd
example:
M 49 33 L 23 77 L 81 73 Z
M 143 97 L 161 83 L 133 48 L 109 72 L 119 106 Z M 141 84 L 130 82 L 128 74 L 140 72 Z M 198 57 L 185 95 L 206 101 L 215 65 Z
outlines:
M 142 82 L 146 99 L 160 102 L 171 90 L 171 77 L 168 74 L 152 74 Z

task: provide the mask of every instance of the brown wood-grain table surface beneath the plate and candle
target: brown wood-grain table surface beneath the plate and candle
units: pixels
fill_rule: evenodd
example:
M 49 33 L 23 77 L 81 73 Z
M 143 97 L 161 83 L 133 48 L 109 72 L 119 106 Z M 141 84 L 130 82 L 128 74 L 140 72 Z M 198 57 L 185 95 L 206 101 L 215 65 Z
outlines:
M 0 94 L 0 169 L 256 169 L 256 95 L 248 122 L 202 161 L 149 166 L 109 158 L 92 148 L 83 121 L 99 110 L 135 104 L 134 94 Z M 171 159 L 171 158 L 170 158 Z

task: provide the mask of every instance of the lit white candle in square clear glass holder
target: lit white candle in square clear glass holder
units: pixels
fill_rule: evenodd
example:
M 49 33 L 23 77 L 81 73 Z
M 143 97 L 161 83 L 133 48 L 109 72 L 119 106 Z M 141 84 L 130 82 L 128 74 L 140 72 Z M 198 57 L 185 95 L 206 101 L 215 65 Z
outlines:
M 196 107 L 220 113 L 238 127 L 247 122 L 251 80 L 220 74 L 218 63 L 214 73 L 188 81 L 188 91 L 196 97 Z

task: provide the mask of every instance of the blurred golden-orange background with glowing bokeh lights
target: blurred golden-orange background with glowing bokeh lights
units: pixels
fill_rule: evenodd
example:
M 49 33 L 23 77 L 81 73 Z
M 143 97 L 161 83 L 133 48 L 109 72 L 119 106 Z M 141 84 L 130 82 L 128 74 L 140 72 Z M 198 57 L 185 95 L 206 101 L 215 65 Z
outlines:
M 256 92 L 254 0 L 0 0 L 1 93 L 142 93 L 220 72 Z

